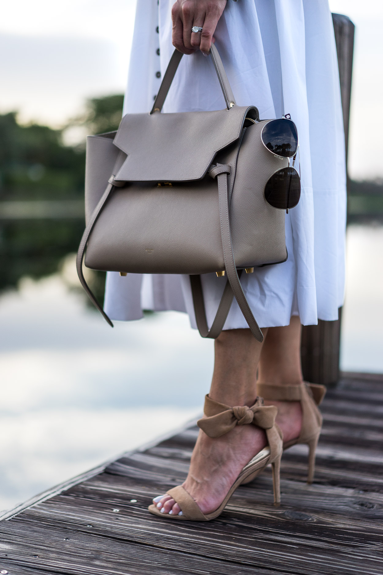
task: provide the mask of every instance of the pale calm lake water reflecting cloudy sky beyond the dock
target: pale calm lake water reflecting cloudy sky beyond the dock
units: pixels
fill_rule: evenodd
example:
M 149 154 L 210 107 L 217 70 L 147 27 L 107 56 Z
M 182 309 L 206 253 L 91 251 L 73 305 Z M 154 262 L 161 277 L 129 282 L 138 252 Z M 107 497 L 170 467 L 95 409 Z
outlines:
M 0 298 L 0 509 L 202 410 L 213 342 L 181 313 L 111 329 L 63 275 Z M 350 226 L 343 370 L 383 372 L 383 227 Z

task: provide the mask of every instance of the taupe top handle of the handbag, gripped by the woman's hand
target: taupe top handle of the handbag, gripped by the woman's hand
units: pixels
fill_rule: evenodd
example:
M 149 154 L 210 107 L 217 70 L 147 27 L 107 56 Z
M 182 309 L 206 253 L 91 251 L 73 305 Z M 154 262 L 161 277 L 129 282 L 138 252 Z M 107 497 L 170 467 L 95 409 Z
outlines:
M 233 106 L 235 106 L 234 94 L 233 90 L 231 90 L 229 79 L 227 78 L 225 68 L 223 67 L 222 60 L 220 59 L 215 44 L 211 44 L 210 55 L 215 67 L 216 74 L 219 79 L 220 87 L 222 88 L 223 97 L 225 98 L 226 102 L 226 108 L 230 110 L 230 108 L 233 108 Z M 177 71 L 178 65 L 181 62 L 182 56 L 183 53 L 175 49 L 168 64 L 167 70 L 164 74 L 163 81 L 161 82 L 160 89 L 158 90 L 158 94 L 154 101 L 153 108 L 150 114 L 153 114 L 154 112 L 161 112 L 161 110 L 163 109 L 165 98 L 168 95 L 169 88 L 171 87 L 171 83 Z

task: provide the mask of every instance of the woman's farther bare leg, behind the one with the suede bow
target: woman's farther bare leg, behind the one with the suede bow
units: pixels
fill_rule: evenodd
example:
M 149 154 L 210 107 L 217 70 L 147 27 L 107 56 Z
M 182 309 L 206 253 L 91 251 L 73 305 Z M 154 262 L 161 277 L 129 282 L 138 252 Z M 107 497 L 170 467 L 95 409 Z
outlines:
M 301 324 L 293 316 L 290 325 L 271 327 L 262 347 L 258 367 L 258 382 L 262 384 L 296 385 L 302 381 L 300 362 Z M 300 434 L 302 412 L 298 401 L 265 401 L 276 405 L 276 422 L 283 431 L 284 440 L 295 439 Z

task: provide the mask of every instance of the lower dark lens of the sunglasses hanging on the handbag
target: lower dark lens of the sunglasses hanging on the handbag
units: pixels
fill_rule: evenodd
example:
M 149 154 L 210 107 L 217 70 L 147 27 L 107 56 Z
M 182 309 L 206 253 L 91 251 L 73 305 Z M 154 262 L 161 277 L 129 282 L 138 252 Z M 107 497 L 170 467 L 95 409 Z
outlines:
M 295 168 L 278 170 L 265 186 L 265 199 L 273 208 L 294 208 L 300 198 L 300 179 Z

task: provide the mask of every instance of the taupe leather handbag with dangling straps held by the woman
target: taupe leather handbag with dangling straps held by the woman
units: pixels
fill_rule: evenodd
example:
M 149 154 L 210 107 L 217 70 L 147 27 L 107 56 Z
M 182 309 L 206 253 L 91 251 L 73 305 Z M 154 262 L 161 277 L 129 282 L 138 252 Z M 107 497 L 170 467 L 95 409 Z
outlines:
M 284 211 L 266 202 L 264 189 L 288 159 L 261 141 L 255 106 L 237 106 L 214 44 L 211 57 L 226 108 L 163 114 L 183 56 L 175 51 L 149 114 L 126 114 L 117 132 L 89 136 L 86 158 L 86 230 L 77 269 L 91 301 L 82 263 L 94 270 L 189 274 L 196 322 L 203 337 L 222 331 L 233 296 L 253 335 L 263 336 L 239 276 L 284 262 Z M 239 271 L 239 274 L 238 274 Z M 225 275 L 218 312 L 207 327 L 200 274 Z M 217 281 L 225 281 L 217 279 Z

